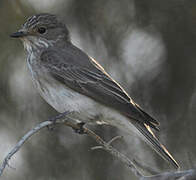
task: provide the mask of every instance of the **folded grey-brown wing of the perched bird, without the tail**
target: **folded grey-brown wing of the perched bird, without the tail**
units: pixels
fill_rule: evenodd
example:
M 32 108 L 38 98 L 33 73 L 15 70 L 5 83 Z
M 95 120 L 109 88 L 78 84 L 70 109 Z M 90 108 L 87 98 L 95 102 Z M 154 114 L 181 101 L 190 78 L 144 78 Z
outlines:
M 74 58 L 72 63 L 67 63 L 68 60 L 61 58 L 56 51 L 45 51 L 41 55 L 41 63 L 55 79 L 69 88 L 158 130 L 159 123 L 135 104 L 120 85 L 93 59 L 88 56 L 82 59 L 89 61 L 88 66 L 83 67 L 77 62 L 73 63 Z

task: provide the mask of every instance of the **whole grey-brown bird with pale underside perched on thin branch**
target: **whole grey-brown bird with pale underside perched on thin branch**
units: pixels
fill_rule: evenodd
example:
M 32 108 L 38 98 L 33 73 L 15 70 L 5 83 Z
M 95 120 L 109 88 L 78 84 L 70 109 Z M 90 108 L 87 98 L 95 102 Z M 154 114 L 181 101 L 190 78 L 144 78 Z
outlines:
M 159 122 L 135 103 L 104 68 L 71 41 L 67 26 L 58 16 L 30 16 L 10 35 L 22 40 L 32 81 L 45 101 L 59 113 L 80 122 L 105 122 L 130 135 L 138 135 L 163 159 L 177 161 L 152 130 Z

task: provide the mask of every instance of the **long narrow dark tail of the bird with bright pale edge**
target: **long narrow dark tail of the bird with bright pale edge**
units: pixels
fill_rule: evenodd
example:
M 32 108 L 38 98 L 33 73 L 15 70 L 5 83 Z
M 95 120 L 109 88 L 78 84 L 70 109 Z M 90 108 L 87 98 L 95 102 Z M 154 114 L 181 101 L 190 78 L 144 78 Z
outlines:
M 139 123 L 137 121 L 132 122 L 135 127 L 146 137 L 147 142 L 153 147 L 153 149 L 160 154 L 165 160 L 171 163 L 176 169 L 179 168 L 178 163 L 172 157 L 172 155 L 168 152 L 168 150 L 159 142 L 159 140 L 155 137 L 151 128 L 143 123 Z

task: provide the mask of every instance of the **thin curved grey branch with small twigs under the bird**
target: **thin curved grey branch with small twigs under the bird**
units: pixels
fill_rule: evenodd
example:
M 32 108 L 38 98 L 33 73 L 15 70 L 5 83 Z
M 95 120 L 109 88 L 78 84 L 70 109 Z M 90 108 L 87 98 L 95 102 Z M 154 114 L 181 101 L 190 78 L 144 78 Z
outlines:
M 35 133 L 40 131 L 42 128 L 49 127 L 54 124 L 64 124 L 66 126 L 72 127 L 73 129 L 76 130 L 81 130 L 81 126 L 77 124 L 76 120 L 73 120 L 69 117 L 65 117 L 64 119 L 61 119 L 65 114 L 60 114 L 56 116 L 55 121 L 47 120 L 44 121 L 37 126 L 35 126 L 32 130 L 27 132 L 16 144 L 16 146 L 8 153 L 8 155 L 5 157 L 3 160 L 2 165 L 0 166 L 0 177 L 2 176 L 4 169 L 6 166 L 9 166 L 9 160 L 12 158 L 12 156 L 20 150 L 20 148 L 23 146 L 23 144 Z M 112 140 L 109 142 L 105 142 L 100 136 L 95 134 L 93 131 L 86 127 L 82 127 L 83 132 L 93 138 L 99 146 L 91 148 L 92 150 L 95 149 L 103 149 L 110 154 L 112 154 L 114 157 L 118 158 L 121 162 L 123 162 L 128 168 L 131 169 L 131 171 L 138 177 L 140 180 L 171 180 L 171 179 L 179 179 L 180 177 L 183 177 L 183 180 L 191 180 L 196 178 L 196 170 L 187 170 L 187 171 L 181 171 L 181 172 L 167 172 L 167 173 L 162 173 L 158 175 L 153 175 L 153 176 L 143 176 L 139 170 L 135 166 L 135 160 L 130 160 L 128 157 L 126 157 L 124 154 L 120 153 L 117 151 L 115 148 L 111 146 L 112 142 L 115 140 L 121 138 L 121 136 L 114 137 Z M 137 164 L 139 164 L 137 162 Z M 140 167 L 142 165 L 139 164 Z M 179 180 L 181 180 L 181 178 Z

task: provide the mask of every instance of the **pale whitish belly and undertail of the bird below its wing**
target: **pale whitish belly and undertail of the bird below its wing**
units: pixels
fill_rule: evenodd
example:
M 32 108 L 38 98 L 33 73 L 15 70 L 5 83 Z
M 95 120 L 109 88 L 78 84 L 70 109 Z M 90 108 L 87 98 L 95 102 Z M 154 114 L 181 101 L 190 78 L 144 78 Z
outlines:
M 34 81 L 35 86 L 41 96 L 58 112 L 63 113 L 67 110 L 78 112 L 78 114 L 74 115 L 74 118 L 87 123 L 95 123 L 97 121 L 96 117 L 102 115 L 102 119 L 98 119 L 99 122 L 103 121 L 120 128 L 130 135 L 139 135 L 143 138 L 130 120 L 118 111 L 73 91 L 58 81 L 51 79 L 52 77 L 49 75 L 44 77 L 42 74 L 41 76 L 42 78 L 39 79 L 39 82 Z

